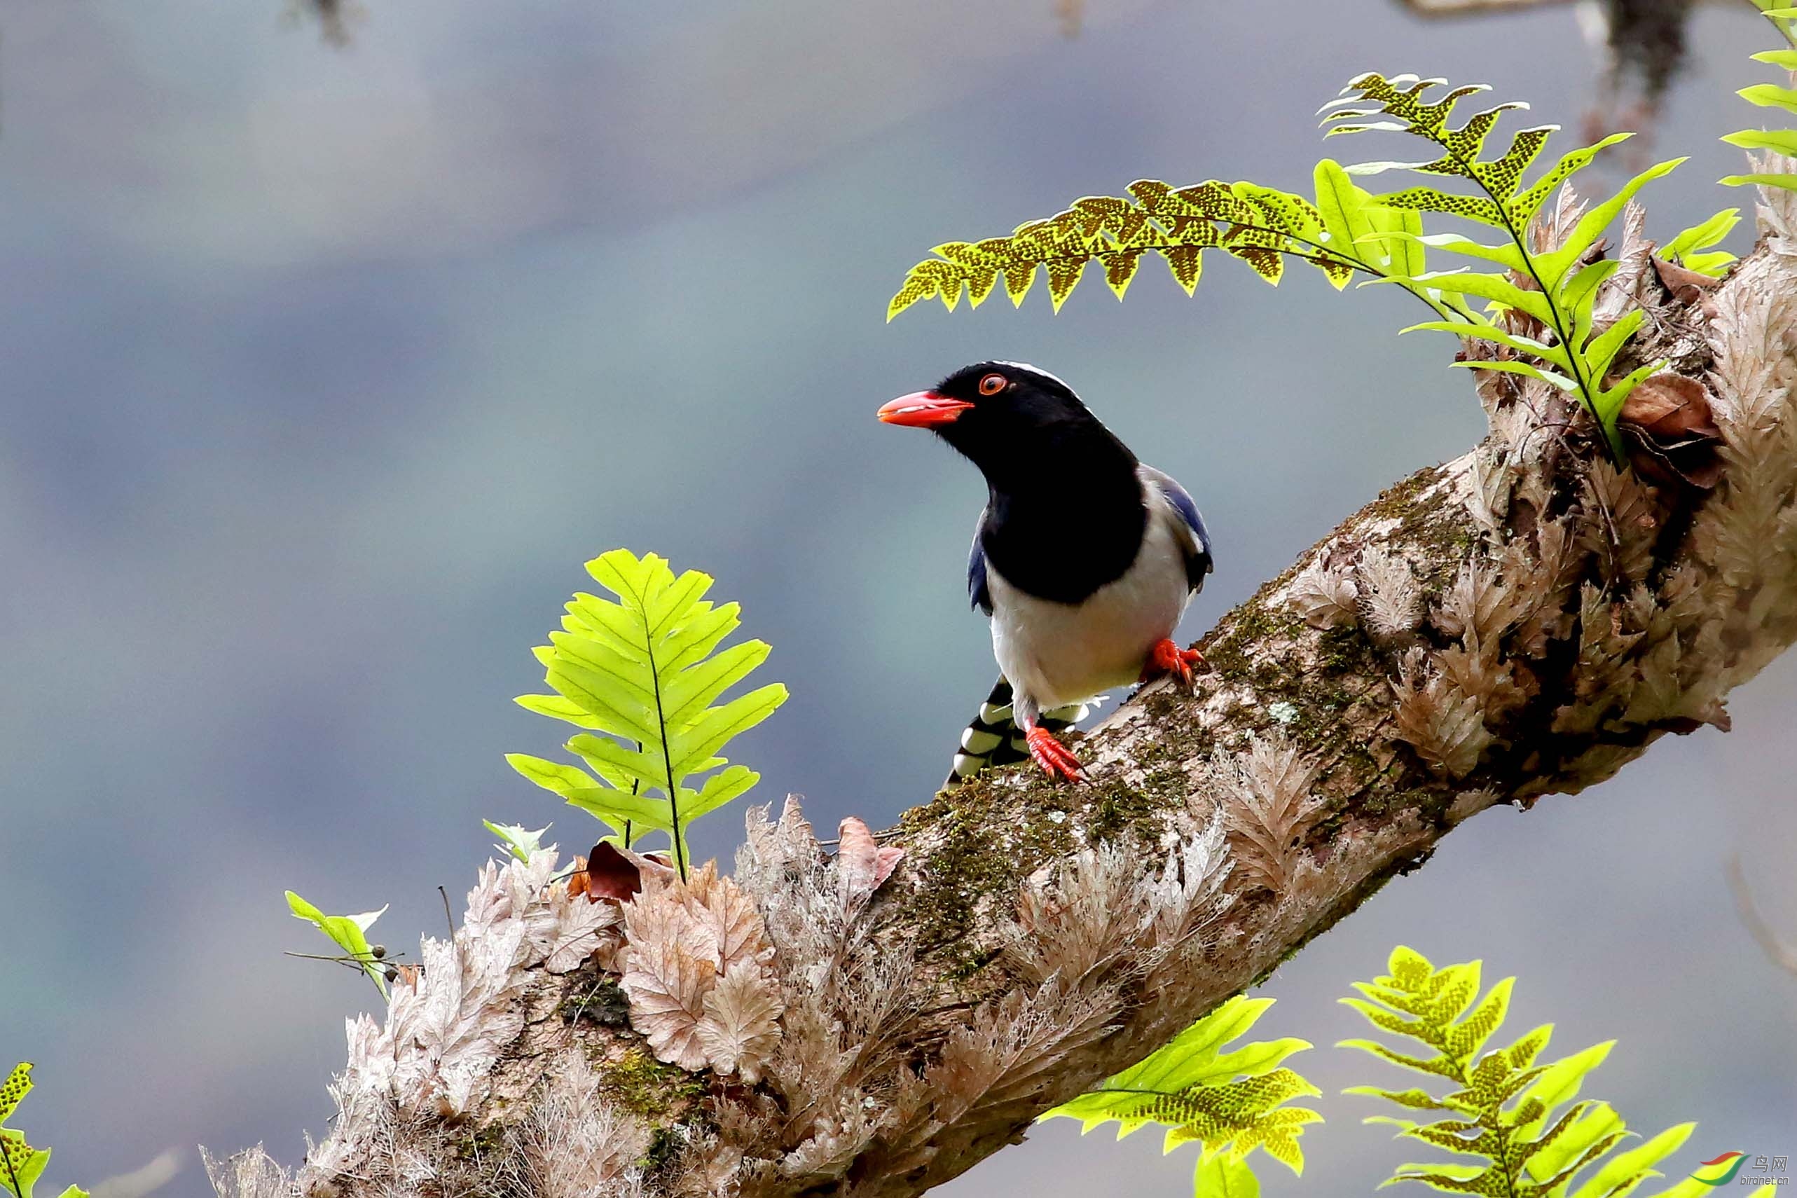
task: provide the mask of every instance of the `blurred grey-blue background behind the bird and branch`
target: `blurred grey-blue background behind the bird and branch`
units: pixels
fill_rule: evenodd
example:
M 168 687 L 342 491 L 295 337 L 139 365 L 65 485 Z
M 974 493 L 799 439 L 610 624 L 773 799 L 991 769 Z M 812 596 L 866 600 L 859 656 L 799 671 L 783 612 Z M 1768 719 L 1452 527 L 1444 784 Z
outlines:
M 199 1194 L 196 1142 L 298 1162 L 323 1132 L 372 991 L 280 956 L 323 947 L 284 887 L 392 903 L 404 948 L 482 817 L 591 842 L 501 754 L 557 744 L 510 697 L 597 551 L 717 575 L 792 690 L 739 742 L 758 797 L 879 826 L 994 674 L 961 587 L 978 476 L 884 399 L 978 357 L 1067 377 L 1206 510 L 1188 636 L 1481 429 L 1452 345 L 1393 336 L 1396 295 L 1218 259 L 1195 300 L 1154 266 L 1127 305 L 1087 280 L 1058 318 L 1039 293 L 886 325 L 929 246 L 1145 174 L 1306 189 L 1312 111 L 1366 68 L 1569 128 L 1598 93 L 1571 7 L 1089 0 L 1076 38 L 1049 0 L 367 9 L 334 48 L 275 0 L 0 2 L 0 1053 L 38 1063 L 16 1123 L 58 1187 L 178 1148 L 165 1193 Z M 1750 201 L 1711 185 L 1738 165 L 1714 138 L 1757 120 L 1732 90 L 1768 34 L 1698 11 L 1660 237 Z M 1596 1092 L 1632 1123 L 1702 1123 L 1675 1166 L 1797 1148 L 1797 979 L 1723 880 L 1741 853 L 1797 934 L 1797 659 L 1732 709 L 1479 817 L 1276 973 L 1261 1029 L 1357 1035 L 1333 999 L 1393 943 L 1483 956 L 1520 1026 L 1621 1038 Z M 1323 1099 L 1306 1180 L 1269 1166 L 1270 1194 L 1371 1193 L 1412 1155 L 1357 1103 Z M 1055 1123 L 951 1191 L 1172 1198 L 1188 1171 Z

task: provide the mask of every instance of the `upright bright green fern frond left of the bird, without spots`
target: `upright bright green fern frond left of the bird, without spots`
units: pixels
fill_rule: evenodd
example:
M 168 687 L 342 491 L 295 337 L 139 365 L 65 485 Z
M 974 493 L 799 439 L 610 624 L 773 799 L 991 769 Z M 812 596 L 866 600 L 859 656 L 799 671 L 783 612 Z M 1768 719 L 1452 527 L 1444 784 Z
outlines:
M 561 632 L 534 650 L 555 693 L 518 702 L 588 729 L 566 747 L 593 772 L 523 753 L 507 762 L 604 821 L 607 841 L 629 848 L 643 832 L 665 833 L 685 878 L 686 826 L 760 781 L 717 751 L 773 715 L 787 690 L 769 683 L 717 702 L 767 659 L 767 643 L 717 650 L 737 629 L 740 609 L 704 598 L 708 575 L 688 569 L 676 577 L 665 559 L 627 550 L 602 553 L 586 569 L 616 602 L 595 595 L 570 600 Z M 686 785 L 708 772 L 699 787 Z

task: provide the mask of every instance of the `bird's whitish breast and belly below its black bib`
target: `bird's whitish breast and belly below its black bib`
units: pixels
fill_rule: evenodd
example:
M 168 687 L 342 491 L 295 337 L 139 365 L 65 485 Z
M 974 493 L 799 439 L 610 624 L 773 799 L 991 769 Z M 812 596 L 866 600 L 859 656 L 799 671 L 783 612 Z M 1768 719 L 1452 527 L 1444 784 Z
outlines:
M 1134 683 L 1154 643 L 1173 634 L 1190 598 L 1190 533 L 1159 492 L 1146 503 L 1136 560 L 1080 603 L 1026 595 L 987 560 L 992 654 L 1019 699 L 1058 708 Z

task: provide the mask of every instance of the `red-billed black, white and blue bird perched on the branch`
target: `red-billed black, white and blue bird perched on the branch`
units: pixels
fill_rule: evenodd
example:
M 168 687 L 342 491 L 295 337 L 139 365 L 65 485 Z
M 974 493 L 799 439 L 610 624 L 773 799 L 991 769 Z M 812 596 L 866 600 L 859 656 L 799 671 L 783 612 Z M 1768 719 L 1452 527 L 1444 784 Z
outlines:
M 1197 505 L 1138 462 L 1071 386 L 1024 363 L 956 370 L 879 417 L 931 429 L 987 476 L 967 591 L 992 618 L 1001 677 L 961 735 L 949 781 L 1024 754 L 1080 781 L 1055 733 L 1084 717 L 1087 699 L 1164 674 L 1190 683 L 1202 661 L 1172 641 L 1211 571 Z

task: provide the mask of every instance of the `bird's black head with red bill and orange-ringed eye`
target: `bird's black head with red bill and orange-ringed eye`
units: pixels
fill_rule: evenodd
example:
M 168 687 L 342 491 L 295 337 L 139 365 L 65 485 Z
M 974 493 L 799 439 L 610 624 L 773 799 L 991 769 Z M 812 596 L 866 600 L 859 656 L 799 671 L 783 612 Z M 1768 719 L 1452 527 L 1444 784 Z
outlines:
M 900 395 L 879 417 L 931 429 L 999 489 L 1058 465 L 1067 453 L 1111 458 L 1121 451 L 1136 465 L 1071 386 L 1024 363 L 963 366 L 927 392 Z

